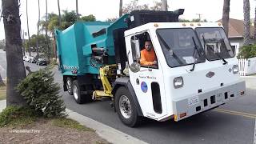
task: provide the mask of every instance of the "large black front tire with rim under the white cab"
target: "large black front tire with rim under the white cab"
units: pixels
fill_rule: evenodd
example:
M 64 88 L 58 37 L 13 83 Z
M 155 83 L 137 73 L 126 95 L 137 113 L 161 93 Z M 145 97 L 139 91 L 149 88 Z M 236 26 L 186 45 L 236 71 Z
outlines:
M 124 99 L 126 99 L 126 101 L 123 101 Z M 134 105 L 134 99 L 132 98 L 130 91 L 125 87 L 119 87 L 116 91 L 114 104 L 118 112 L 118 117 L 126 126 L 135 127 L 141 124 L 142 117 L 138 116 L 138 112 Z

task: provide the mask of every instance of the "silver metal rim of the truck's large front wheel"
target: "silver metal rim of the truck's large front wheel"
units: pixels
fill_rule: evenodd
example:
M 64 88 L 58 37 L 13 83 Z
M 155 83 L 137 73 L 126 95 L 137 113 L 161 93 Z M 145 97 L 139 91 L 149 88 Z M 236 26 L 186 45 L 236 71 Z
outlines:
M 119 110 L 124 118 L 130 118 L 131 116 L 131 106 L 130 100 L 126 95 L 122 95 L 119 99 Z

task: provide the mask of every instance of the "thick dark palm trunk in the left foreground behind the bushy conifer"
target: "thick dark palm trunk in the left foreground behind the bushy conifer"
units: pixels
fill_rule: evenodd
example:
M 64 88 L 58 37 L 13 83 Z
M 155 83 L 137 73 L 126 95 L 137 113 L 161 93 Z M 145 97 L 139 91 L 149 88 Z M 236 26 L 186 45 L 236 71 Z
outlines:
M 7 106 L 26 105 L 23 97 L 15 87 L 26 77 L 22 60 L 21 20 L 18 0 L 2 0 L 2 16 L 6 34 L 6 62 L 7 62 Z

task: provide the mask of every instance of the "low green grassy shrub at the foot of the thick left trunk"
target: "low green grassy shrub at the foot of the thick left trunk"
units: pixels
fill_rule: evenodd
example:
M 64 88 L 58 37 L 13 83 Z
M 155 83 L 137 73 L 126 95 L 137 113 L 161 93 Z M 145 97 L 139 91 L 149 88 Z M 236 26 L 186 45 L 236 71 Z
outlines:
M 30 106 L 8 106 L 0 114 L 0 127 L 3 126 L 26 126 L 34 122 L 38 114 Z

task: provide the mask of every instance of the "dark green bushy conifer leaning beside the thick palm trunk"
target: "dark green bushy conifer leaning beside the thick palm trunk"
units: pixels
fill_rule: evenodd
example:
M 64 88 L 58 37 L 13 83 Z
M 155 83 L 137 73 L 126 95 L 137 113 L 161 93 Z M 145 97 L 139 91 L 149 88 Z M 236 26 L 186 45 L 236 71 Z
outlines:
M 50 67 L 29 74 L 18 84 L 18 92 L 25 98 L 28 106 L 42 113 L 44 117 L 65 117 L 66 106 L 58 95 L 60 87 L 54 82 Z

